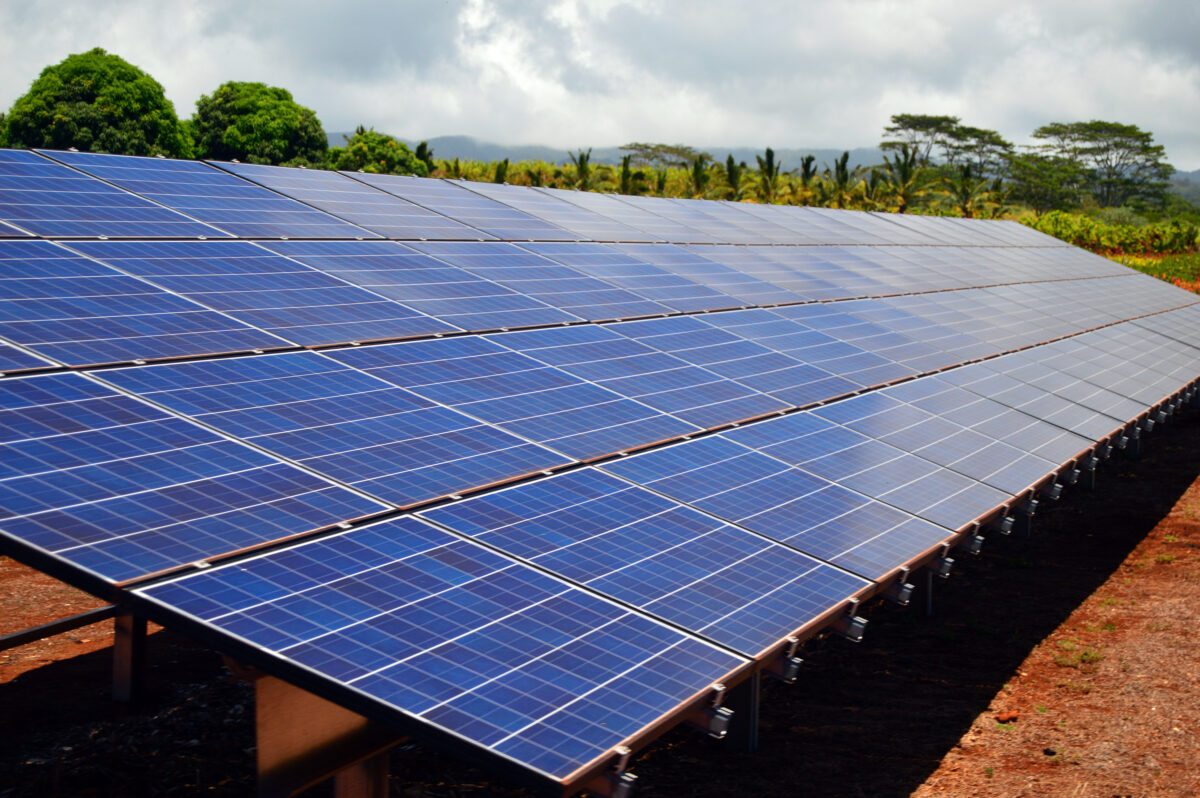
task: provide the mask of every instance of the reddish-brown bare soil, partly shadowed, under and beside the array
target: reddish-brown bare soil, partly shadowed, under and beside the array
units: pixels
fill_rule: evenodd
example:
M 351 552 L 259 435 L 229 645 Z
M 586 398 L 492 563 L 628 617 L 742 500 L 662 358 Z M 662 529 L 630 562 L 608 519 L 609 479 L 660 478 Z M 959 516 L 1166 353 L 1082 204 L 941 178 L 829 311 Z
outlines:
M 1114 458 L 1098 490 L 989 538 L 934 614 L 877 605 L 863 643 L 812 641 L 763 691 L 760 748 L 677 730 L 638 794 L 824 798 L 1200 796 L 1200 419 Z M 0 559 L 0 634 L 97 606 Z M 252 796 L 252 690 L 151 635 L 149 690 L 108 698 L 112 623 L 0 652 L 0 798 Z M 395 796 L 521 796 L 416 745 Z M 329 794 L 318 787 L 311 796 Z

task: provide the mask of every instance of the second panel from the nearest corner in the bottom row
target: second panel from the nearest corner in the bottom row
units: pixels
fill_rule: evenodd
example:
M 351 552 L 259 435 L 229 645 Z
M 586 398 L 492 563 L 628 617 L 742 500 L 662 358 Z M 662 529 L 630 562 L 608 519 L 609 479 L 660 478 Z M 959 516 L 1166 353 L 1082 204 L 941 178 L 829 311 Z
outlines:
M 751 656 L 868 586 L 590 468 L 421 515 Z

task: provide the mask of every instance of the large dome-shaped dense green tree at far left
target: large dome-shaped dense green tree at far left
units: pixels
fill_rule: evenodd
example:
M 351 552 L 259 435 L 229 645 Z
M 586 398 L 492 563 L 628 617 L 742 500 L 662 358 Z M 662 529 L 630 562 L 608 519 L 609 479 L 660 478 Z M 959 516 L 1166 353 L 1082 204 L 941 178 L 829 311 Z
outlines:
M 17 148 L 192 156 L 162 85 L 98 47 L 42 70 L 13 103 L 0 139 Z

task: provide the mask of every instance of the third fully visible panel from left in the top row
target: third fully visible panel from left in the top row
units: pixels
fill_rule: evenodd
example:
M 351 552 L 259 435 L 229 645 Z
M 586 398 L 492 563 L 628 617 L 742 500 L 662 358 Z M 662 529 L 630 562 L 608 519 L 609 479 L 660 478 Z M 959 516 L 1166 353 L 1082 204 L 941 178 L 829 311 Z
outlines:
M 574 241 L 580 236 L 557 224 L 509 208 L 466 188 L 466 184 L 395 174 L 349 173 L 355 180 L 427 208 L 457 222 L 511 241 Z

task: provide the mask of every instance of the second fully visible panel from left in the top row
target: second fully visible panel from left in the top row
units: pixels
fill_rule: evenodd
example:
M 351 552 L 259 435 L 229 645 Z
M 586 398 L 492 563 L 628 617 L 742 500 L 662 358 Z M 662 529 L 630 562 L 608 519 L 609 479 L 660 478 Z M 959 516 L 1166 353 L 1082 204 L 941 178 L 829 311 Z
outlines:
M 258 163 L 210 163 L 389 239 L 470 241 L 492 238 L 336 172 Z

